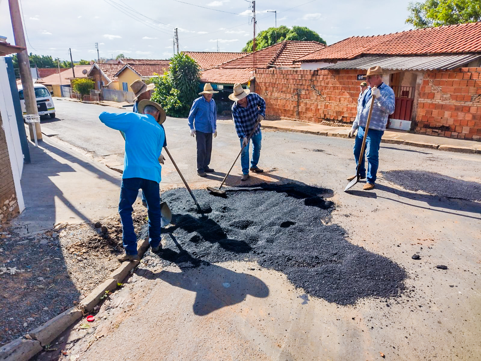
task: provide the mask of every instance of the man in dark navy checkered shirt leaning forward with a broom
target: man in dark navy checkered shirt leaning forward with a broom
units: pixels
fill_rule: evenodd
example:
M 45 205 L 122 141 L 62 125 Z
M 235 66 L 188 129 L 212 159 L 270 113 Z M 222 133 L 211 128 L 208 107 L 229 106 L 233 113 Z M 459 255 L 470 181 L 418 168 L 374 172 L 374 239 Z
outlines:
M 249 179 L 249 170 L 255 173 L 264 171 L 257 167 L 257 163 L 259 163 L 261 155 L 262 134 L 260 123 L 266 117 L 266 101 L 258 94 L 251 93 L 248 89 L 242 89 L 241 84 L 234 85 L 234 92 L 229 95 L 229 99 L 235 101 L 232 104 L 232 118 L 243 147 L 241 153 L 241 181 L 247 181 Z M 252 131 L 252 162 L 249 169 L 249 141 L 247 137 L 249 137 Z

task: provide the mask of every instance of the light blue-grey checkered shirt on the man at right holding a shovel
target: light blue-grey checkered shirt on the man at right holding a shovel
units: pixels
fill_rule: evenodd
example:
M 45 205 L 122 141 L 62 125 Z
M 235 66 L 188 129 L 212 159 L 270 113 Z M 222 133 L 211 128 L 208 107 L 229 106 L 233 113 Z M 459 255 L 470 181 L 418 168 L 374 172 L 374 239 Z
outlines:
M 394 113 L 394 91 L 389 85 L 382 83 L 378 87 L 381 96 L 374 100 L 374 108 L 372 109 L 371 121 L 369 129 L 386 130 L 388 116 Z M 354 119 L 353 129 L 359 126 L 365 128 L 367 123 L 367 116 L 371 107 L 371 88 L 364 90 L 364 93 L 357 103 L 357 115 Z

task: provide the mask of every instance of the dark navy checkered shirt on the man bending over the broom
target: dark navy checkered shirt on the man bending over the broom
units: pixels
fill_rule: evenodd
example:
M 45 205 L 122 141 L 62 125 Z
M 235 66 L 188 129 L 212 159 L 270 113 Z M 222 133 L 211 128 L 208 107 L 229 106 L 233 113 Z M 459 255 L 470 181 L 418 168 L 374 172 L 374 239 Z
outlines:
M 266 101 L 256 93 L 247 94 L 247 107 L 242 107 L 235 102 L 232 104 L 232 118 L 236 125 L 239 138 L 247 138 L 257 122 L 257 116 L 266 116 Z M 258 125 L 253 135 L 261 132 Z

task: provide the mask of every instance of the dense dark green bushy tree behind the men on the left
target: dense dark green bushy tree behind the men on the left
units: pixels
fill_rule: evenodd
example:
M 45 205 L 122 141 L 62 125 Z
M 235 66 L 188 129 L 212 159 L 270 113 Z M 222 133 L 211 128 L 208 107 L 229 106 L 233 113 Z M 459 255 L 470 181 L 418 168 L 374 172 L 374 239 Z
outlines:
M 199 81 L 199 64 L 186 54 L 176 54 L 170 58 L 165 74 L 152 78 L 155 89 L 151 99 L 161 103 L 169 116 L 188 116 L 192 102 L 199 96 Z

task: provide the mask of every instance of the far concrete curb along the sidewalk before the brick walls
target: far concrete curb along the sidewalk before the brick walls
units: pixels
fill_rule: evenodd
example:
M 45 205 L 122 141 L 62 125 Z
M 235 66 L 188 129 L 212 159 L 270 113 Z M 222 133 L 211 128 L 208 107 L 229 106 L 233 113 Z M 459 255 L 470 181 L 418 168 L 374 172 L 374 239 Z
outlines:
M 276 127 L 276 126 L 272 126 L 272 125 L 265 125 L 265 124 L 262 124 L 261 126 L 263 128 L 266 128 L 266 129 L 291 131 L 291 132 L 295 132 L 295 133 L 304 133 L 304 134 L 313 134 L 313 135 L 323 135 L 323 136 L 328 136 L 328 137 L 347 138 L 347 134 L 338 133 L 338 132 L 290 129 L 290 128 Z M 403 145 L 410 145 L 412 147 L 430 148 L 430 149 L 436 149 L 436 150 L 441 150 L 441 151 L 445 151 L 445 152 L 481 154 L 481 149 L 459 147 L 459 146 L 456 146 L 456 145 L 447 145 L 447 144 L 433 144 L 433 143 L 424 143 L 424 142 L 403 141 L 403 140 L 400 140 L 400 139 L 390 139 L 390 138 L 381 139 L 381 143 L 403 144 Z

